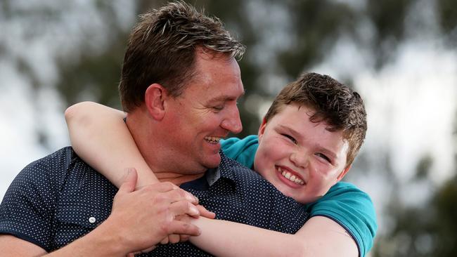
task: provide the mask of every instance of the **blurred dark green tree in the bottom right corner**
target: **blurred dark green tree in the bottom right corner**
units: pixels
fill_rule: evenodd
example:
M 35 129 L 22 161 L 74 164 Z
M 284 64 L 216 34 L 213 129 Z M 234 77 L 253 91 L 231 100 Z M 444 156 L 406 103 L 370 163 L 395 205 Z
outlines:
M 457 112 L 454 121 L 457 149 Z M 413 207 L 404 206 L 397 198 L 390 202 L 387 209 L 394 224 L 385 235 L 378 236 L 373 256 L 457 256 L 457 152 L 454 154 L 455 175 L 438 187 L 427 202 Z M 413 180 L 430 183 L 432 161 L 430 156 L 423 157 Z

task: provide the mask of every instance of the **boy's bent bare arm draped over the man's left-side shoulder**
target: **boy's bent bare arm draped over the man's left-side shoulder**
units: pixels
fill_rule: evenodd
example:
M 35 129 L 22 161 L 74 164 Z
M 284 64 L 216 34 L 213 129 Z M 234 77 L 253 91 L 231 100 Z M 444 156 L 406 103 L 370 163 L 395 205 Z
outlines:
M 116 187 L 127 167 L 135 167 L 136 188 L 157 183 L 124 122 L 125 114 L 92 102 L 77 103 L 65 111 L 70 140 L 84 162 L 108 178 Z

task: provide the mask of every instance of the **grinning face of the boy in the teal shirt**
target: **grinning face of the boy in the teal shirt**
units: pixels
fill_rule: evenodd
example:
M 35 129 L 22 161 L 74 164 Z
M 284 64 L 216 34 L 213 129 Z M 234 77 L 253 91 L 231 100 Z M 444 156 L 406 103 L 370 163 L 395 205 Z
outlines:
M 309 121 L 314 110 L 290 104 L 259 129 L 254 167 L 284 195 L 314 202 L 349 170 L 349 144 L 342 131 L 330 132 L 325 122 Z

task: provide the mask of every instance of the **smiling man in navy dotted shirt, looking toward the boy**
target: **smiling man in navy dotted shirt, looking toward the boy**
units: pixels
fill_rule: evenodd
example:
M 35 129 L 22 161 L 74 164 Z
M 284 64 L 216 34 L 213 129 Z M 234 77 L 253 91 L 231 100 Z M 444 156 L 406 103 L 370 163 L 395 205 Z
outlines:
M 243 84 L 234 58 L 243 50 L 219 20 L 187 4 L 143 15 L 129 40 L 120 95 L 131 135 L 162 183 L 131 192 L 136 173 L 130 172 L 115 196 L 108 180 L 65 148 L 27 166 L 8 189 L 0 246 L 8 246 L 9 255 L 58 249 L 51 255 L 122 256 L 174 233 L 198 235 L 176 216 L 205 212 L 172 183 L 218 218 L 289 233 L 302 228 L 302 204 L 219 154 L 220 138 L 241 130 L 236 100 Z M 153 253 L 205 254 L 191 244 Z

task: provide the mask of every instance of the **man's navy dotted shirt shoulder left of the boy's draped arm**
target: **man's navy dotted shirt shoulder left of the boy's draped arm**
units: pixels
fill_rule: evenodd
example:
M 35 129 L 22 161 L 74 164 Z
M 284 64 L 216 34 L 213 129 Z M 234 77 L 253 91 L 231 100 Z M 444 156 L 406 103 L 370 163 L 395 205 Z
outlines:
M 53 251 L 103 222 L 116 191 L 72 147 L 63 147 L 15 177 L 0 204 L 0 233 Z M 97 223 L 88 222 L 88 217 Z

